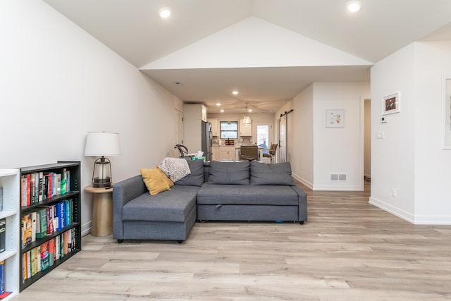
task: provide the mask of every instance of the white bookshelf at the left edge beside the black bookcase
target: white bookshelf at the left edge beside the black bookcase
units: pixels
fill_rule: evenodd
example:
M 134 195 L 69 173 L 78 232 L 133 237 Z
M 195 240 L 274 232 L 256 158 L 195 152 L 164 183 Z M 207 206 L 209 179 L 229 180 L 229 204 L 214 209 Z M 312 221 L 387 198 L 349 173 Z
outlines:
M 0 186 L 3 187 L 4 204 L 0 219 L 6 219 L 6 250 L 0 253 L 0 261 L 5 261 L 5 291 L 11 292 L 11 295 L 2 299 L 4 301 L 11 300 L 19 292 L 20 170 L 0 168 Z

